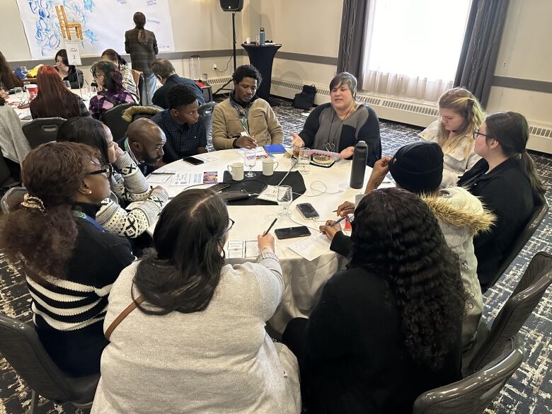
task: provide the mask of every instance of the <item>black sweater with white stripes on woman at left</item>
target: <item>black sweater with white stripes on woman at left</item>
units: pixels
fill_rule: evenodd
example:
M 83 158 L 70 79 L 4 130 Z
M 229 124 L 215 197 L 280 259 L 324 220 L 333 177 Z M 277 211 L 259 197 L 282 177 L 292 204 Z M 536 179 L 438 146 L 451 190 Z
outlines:
M 67 263 L 67 277 L 45 276 L 40 283 L 28 274 L 25 278 L 42 345 L 65 372 L 81 376 L 99 370 L 101 352 L 108 343 L 103 337 L 108 295 L 134 256 L 126 238 L 75 219 L 79 234 Z

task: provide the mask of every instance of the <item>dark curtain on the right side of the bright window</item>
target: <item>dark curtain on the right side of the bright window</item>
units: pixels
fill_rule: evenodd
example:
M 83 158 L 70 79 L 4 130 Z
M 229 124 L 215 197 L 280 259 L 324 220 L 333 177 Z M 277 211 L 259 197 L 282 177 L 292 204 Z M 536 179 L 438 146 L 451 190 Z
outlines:
M 498 48 L 510 0 L 473 0 L 454 86 L 471 91 L 483 107 L 493 84 Z

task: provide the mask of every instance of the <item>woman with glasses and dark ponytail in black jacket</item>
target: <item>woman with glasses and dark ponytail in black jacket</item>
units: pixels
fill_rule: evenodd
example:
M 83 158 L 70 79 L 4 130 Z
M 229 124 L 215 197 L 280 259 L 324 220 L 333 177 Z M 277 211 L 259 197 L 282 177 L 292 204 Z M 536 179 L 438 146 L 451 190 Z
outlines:
M 482 159 L 460 178 L 458 185 L 478 196 L 497 216 L 488 233 L 473 239 L 484 292 L 535 207 L 544 202 L 546 187 L 525 149 L 529 125 L 522 114 L 489 115 L 473 132 L 473 139 L 476 154 Z

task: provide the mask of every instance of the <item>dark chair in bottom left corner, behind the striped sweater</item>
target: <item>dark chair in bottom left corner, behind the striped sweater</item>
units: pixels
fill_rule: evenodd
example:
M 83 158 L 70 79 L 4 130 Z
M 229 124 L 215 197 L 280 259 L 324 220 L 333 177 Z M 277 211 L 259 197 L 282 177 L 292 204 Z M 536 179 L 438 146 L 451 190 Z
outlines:
M 82 378 L 67 376 L 47 355 L 33 326 L 4 314 L 0 314 L 0 338 L 0 354 L 31 390 L 31 414 L 38 406 L 38 396 L 78 408 L 92 406 L 100 374 Z

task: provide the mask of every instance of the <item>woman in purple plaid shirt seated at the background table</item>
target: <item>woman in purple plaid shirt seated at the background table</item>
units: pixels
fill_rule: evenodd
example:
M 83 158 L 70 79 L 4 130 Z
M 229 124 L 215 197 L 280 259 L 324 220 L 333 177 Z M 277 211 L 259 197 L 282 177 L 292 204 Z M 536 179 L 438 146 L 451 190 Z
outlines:
M 100 60 L 92 65 L 90 71 L 100 90 L 90 99 L 90 113 L 97 120 L 108 109 L 121 103 L 135 102 L 134 97 L 122 87 L 121 72 L 108 60 Z

